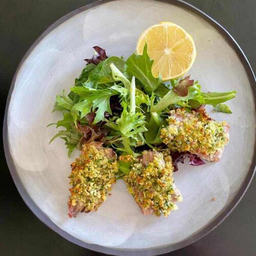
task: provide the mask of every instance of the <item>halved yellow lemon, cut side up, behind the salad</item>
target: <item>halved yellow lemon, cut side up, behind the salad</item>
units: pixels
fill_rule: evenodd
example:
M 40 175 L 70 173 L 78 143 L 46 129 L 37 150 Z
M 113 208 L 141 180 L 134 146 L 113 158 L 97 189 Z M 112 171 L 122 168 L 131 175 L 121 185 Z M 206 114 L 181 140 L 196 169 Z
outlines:
M 147 54 L 154 60 L 152 74 L 154 77 L 160 74 L 163 81 L 184 76 L 197 55 L 193 38 L 171 22 L 146 29 L 139 37 L 137 54 L 143 53 L 145 43 Z

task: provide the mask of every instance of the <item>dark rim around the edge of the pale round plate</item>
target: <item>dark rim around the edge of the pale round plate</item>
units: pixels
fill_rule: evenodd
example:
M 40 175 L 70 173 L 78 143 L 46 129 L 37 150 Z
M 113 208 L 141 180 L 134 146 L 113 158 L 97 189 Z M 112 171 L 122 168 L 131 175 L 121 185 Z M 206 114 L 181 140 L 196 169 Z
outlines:
M 249 171 L 248 171 L 248 174 L 247 174 L 245 180 L 243 181 L 243 183 L 241 185 L 241 188 L 239 189 L 236 196 L 234 196 L 233 200 L 224 208 L 222 213 L 219 214 L 217 218 L 215 218 L 213 221 L 211 221 L 206 227 L 195 232 L 189 238 L 187 238 L 183 241 L 180 241 L 174 245 L 152 247 L 152 248 L 141 249 L 141 250 L 138 250 L 138 249 L 121 250 L 121 249 L 105 247 L 105 246 L 101 246 L 101 245 L 97 245 L 97 244 L 88 244 L 86 242 L 83 242 L 83 241 L 73 237 L 68 232 L 62 230 L 60 227 L 58 227 L 56 224 L 54 224 L 50 220 L 50 218 L 47 217 L 44 214 L 44 212 L 42 212 L 42 210 L 39 207 L 37 207 L 35 202 L 29 196 L 25 187 L 23 186 L 22 182 L 20 181 L 20 178 L 17 175 L 14 161 L 10 154 L 9 140 L 8 140 L 8 125 L 7 125 L 8 110 L 9 110 L 10 99 L 11 99 L 11 95 L 12 95 L 12 92 L 14 89 L 16 77 L 17 77 L 17 74 L 18 74 L 20 68 L 22 68 L 23 63 L 26 61 L 26 59 L 28 58 L 30 53 L 34 50 L 34 48 L 39 44 L 39 42 L 43 38 L 45 38 L 45 36 L 47 36 L 51 31 L 53 31 L 56 27 L 58 27 L 59 25 L 61 25 L 64 22 L 66 22 L 66 20 L 70 19 L 71 17 L 75 16 L 76 14 L 78 14 L 80 12 L 83 12 L 83 11 L 86 11 L 93 7 L 96 7 L 96 6 L 99 6 L 99 5 L 108 3 L 108 2 L 113 2 L 113 1 L 115 1 L 115 0 L 99 0 L 99 1 L 93 2 L 91 4 L 82 6 L 74 11 L 69 12 L 68 14 L 59 18 L 56 22 L 54 22 L 52 25 L 50 25 L 43 33 L 41 33 L 40 36 L 33 42 L 32 46 L 28 49 L 28 51 L 26 52 L 26 54 L 20 61 L 19 65 L 17 67 L 17 70 L 13 76 L 11 86 L 9 89 L 9 93 L 8 93 L 8 97 L 7 97 L 7 101 L 6 101 L 5 117 L 4 117 L 4 125 L 3 125 L 3 141 L 4 141 L 5 157 L 6 157 L 6 161 L 7 161 L 8 168 L 10 170 L 12 179 L 15 183 L 15 186 L 17 187 L 17 190 L 18 190 L 20 196 L 22 197 L 22 199 L 24 200 L 24 202 L 26 203 L 26 205 L 29 207 L 29 209 L 33 212 L 33 214 L 41 222 L 43 222 L 50 229 L 52 229 L 53 231 L 58 233 L 61 237 L 67 239 L 68 241 L 70 241 L 72 243 L 82 246 L 84 248 L 91 249 L 91 250 L 98 251 L 98 252 L 109 253 L 109 254 L 113 254 L 113 255 L 131 255 L 131 252 L 136 253 L 136 255 L 144 255 L 145 252 L 147 252 L 147 254 L 150 253 L 151 255 L 162 254 L 162 253 L 166 253 L 166 252 L 170 252 L 170 251 L 174 251 L 174 250 L 183 248 L 183 247 L 185 247 L 189 244 L 192 244 L 192 243 L 198 241 L 199 239 L 203 238 L 204 236 L 206 236 L 206 234 L 208 234 L 209 232 L 214 230 L 217 226 L 219 226 L 229 216 L 231 211 L 234 208 L 236 208 L 236 206 L 239 204 L 239 202 L 243 198 L 244 194 L 246 193 L 246 190 L 248 189 L 248 187 L 251 183 L 251 180 L 255 174 L 255 170 L 256 170 L 256 143 L 255 142 L 256 141 L 254 142 L 254 150 L 253 150 L 253 158 L 252 158 L 251 166 L 249 168 Z M 172 5 L 181 7 L 185 10 L 191 11 L 191 12 L 199 15 L 200 17 L 204 18 L 210 25 L 215 27 L 218 30 L 218 32 L 220 32 L 223 35 L 223 37 L 227 40 L 230 47 L 232 47 L 232 49 L 236 52 L 241 63 L 243 64 L 243 67 L 247 73 L 247 77 L 249 78 L 249 81 L 250 81 L 250 86 L 252 88 L 252 92 L 253 92 L 253 96 L 254 96 L 254 105 L 255 105 L 255 102 L 256 102 L 256 90 L 255 90 L 256 89 L 256 80 L 255 80 L 254 73 L 252 71 L 250 63 L 249 63 L 247 57 L 245 56 L 244 52 L 238 45 L 237 41 L 234 40 L 234 38 L 229 34 L 229 32 L 222 25 L 220 25 L 215 19 L 211 18 L 208 14 L 204 13 L 203 11 L 201 11 L 200 9 L 198 9 L 197 7 L 195 7 L 191 4 L 184 2 L 183 0 L 154 0 L 154 1 L 172 4 Z M 255 134 L 256 134 L 256 129 L 255 129 Z

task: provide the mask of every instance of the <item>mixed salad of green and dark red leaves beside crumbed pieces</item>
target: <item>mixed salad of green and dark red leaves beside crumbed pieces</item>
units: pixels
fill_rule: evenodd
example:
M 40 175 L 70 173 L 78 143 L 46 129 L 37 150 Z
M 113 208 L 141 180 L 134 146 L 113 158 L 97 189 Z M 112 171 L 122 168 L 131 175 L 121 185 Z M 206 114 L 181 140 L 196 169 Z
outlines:
M 154 77 L 147 45 L 142 55 L 132 54 L 126 60 L 107 56 L 97 46 L 94 50 L 70 92 L 56 96 L 53 112 L 62 112 L 63 118 L 50 124 L 61 127 L 50 142 L 63 139 L 69 157 L 75 148 L 81 150 L 91 141 L 103 142 L 118 156 L 159 151 L 161 129 L 167 126 L 170 110 L 198 111 L 212 105 L 215 111 L 231 113 L 223 102 L 234 98 L 236 91 L 203 92 L 199 82 L 189 76 L 164 82 L 161 75 Z M 129 173 L 127 164 L 119 161 L 118 177 Z

